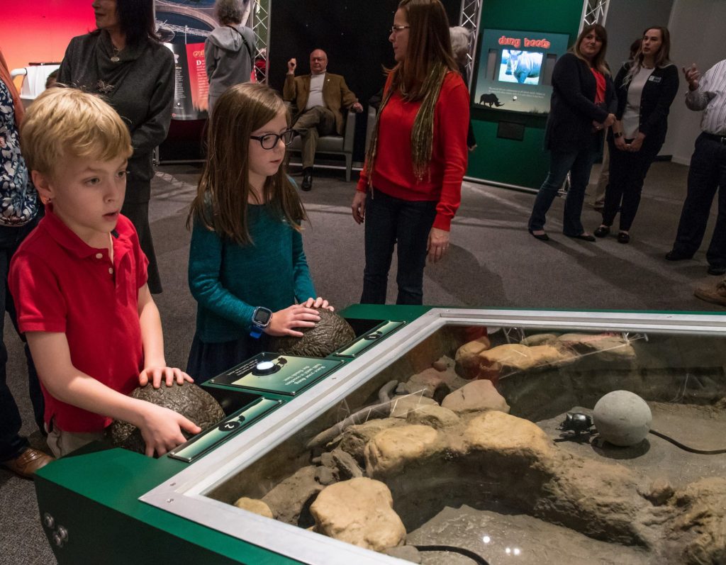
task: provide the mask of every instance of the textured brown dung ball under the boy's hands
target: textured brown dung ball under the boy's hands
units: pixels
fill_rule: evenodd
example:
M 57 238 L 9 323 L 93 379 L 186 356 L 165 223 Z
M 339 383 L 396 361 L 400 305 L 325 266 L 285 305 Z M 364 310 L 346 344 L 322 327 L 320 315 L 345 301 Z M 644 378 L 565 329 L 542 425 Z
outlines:
M 162 383 L 158 389 L 151 385 L 139 386 L 131 393 L 131 397 L 179 412 L 184 418 L 192 420 L 202 429 L 213 426 L 224 418 L 224 411 L 219 402 L 211 394 L 192 383 L 183 385 L 174 383 L 172 386 Z M 182 433 L 189 439 L 189 434 L 184 430 Z M 116 447 L 139 453 L 144 452 L 145 444 L 141 431 L 133 424 L 114 420 L 108 428 L 108 436 Z

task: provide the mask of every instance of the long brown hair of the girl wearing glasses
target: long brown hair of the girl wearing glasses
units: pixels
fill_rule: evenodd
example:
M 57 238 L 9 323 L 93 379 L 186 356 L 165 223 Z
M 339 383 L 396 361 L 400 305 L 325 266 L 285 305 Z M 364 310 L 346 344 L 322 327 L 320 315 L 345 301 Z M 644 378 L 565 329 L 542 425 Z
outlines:
M 192 220 L 200 221 L 234 243 L 253 243 L 247 219 L 250 135 L 280 112 L 286 113 L 289 126 L 290 113 L 285 103 L 264 84 L 237 84 L 219 97 L 207 131 L 207 160 L 187 227 Z M 262 203 L 270 203 L 280 218 L 298 231 L 307 219 L 284 166 L 267 177 Z

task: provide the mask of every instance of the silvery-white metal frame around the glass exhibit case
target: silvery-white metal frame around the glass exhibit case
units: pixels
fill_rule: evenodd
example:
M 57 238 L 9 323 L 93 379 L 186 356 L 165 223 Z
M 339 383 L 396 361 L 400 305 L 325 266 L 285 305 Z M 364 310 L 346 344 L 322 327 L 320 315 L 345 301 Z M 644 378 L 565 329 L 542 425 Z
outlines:
M 398 558 L 243 511 L 206 497 L 205 493 L 250 466 L 325 410 L 342 402 L 351 391 L 444 325 L 726 336 L 726 317 L 719 314 L 432 309 L 312 386 L 301 397 L 272 412 L 264 418 L 264 425 L 250 426 L 139 500 L 309 564 L 405 563 Z

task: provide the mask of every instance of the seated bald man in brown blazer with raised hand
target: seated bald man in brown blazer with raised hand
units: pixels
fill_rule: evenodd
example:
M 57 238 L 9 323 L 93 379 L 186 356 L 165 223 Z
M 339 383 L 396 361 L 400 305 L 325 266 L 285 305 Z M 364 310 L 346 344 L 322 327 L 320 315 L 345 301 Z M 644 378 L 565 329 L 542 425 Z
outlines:
M 327 73 L 327 55 L 322 49 L 310 54 L 310 74 L 295 76 L 297 61 L 287 61 L 287 76 L 282 97 L 295 104 L 293 129 L 301 135 L 303 153 L 303 190 L 313 186 L 313 162 L 318 137 L 343 135 L 342 109 L 362 112 L 363 106 L 348 89 L 346 79 Z

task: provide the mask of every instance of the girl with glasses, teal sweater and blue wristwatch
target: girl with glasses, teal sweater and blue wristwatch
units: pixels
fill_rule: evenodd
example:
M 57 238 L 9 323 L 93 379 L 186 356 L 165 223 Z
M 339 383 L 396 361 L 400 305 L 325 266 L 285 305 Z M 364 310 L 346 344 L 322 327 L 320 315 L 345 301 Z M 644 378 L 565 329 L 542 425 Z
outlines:
M 320 320 L 316 309 L 333 310 L 315 293 L 305 209 L 282 166 L 292 139 L 285 103 L 268 86 L 237 84 L 217 99 L 187 218 L 197 300 L 187 373 L 197 383 L 264 351 L 266 336 L 301 337 Z

